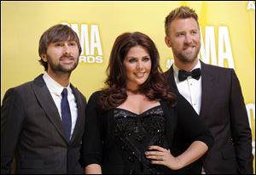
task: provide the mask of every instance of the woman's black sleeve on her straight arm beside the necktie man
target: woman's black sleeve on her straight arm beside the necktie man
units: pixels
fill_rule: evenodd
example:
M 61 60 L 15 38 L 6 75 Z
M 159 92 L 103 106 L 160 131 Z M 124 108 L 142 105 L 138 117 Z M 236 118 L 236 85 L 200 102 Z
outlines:
M 100 92 L 90 96 L 85 110 L 85 128 L 82 138 L 81 163 L 83 167 L 90 164 L 101 164 L 102 161 L 102 127 L 98 110 Z

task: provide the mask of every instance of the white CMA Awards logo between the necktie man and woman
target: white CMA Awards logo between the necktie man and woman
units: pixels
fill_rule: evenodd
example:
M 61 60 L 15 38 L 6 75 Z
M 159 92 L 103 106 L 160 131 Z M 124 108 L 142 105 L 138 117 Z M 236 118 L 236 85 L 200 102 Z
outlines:
M 70 26 L 79 36 L 82 48 L 79 63 L 103 63 L 102 43 L 98 25 L 82 24 L 79 30 L 79 24 L 70 25 L 66 22 L 62 22 L 61 24 Z

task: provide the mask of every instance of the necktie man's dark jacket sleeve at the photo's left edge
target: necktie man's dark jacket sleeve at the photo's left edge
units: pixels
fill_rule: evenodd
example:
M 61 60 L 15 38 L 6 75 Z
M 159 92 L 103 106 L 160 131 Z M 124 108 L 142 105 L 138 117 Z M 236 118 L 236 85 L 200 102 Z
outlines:
M 24 121 L 24 107 L 20 94 L 10 88 L 3 97 L 1 106 L 1 174 L 11 172 L 11 162 Z

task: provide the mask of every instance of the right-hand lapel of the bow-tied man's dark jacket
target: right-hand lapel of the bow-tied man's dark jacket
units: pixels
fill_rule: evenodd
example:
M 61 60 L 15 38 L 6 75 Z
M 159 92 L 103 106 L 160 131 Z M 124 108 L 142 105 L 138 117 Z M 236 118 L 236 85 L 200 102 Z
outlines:
M 212 104 L 212 95 L 214 95 L 214 85 L 216 78 L 213 76 L 211 67 L 201 62 L 201 111 L 200 116 L 207 116 Z

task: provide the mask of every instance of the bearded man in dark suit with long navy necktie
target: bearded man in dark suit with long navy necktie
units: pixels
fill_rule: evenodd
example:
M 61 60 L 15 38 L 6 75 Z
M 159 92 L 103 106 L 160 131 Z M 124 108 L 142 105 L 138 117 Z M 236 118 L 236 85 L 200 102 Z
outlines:
M 1 107 L 1 173 L 83 173 L 79 164 L 84 133 L 84 95 L 69 82 L 81 46 L 67 25 L 42 35 L 39 62 L 44 75 L 10 88 Z

